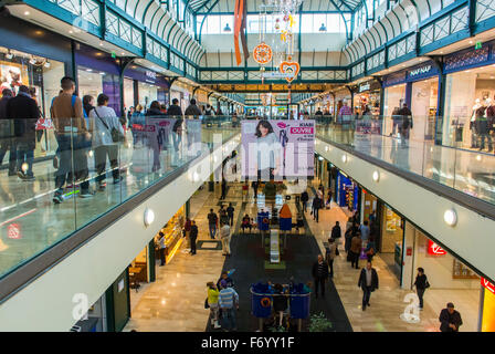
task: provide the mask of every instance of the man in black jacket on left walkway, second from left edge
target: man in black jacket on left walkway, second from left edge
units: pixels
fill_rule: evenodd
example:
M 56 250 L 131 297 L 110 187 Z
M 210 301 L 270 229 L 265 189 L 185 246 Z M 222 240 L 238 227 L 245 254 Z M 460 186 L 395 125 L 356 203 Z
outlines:
M 36 145 L 36 122 L 40 110 L 29 94 L 29 87 L 21 85 L 15 97 L 7 103 L 7 115 L 14 118 L 13 128 L 17 145 L 18 176 L 23 180 L 33 180 L 33 159 Z M 23 170 L 23 164 L 28 167 Z

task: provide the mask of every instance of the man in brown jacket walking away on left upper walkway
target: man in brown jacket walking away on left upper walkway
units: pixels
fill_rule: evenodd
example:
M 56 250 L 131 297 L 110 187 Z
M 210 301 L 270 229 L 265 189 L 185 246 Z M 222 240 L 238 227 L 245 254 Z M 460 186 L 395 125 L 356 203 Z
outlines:
M 51 115 L 55 126 L 55 137 L 59 143 L 60 162 L 55 174 L 54 204 L 63 201 L 64 185 L 72 179 L 81 180 L 80 196 L 92 197 L 89 192 L 87 150 L 92 136 L 87 129 L 83 114 L 83 103 L 74 95 L 75 83 L 72 77 L 61 80 L 62 92 L 52 101 Z M 74 170 L 74 175 L 72 174 Z M 72 178 L 70 177 L 72 176 Z

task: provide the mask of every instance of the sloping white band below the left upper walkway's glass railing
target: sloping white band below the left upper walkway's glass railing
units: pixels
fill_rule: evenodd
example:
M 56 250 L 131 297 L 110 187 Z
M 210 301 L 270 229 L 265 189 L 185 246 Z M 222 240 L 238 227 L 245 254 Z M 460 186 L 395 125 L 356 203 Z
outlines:
M 240 136 L 225 144 L 223 156 L 231 154 L 239 143 Z M 72 315 L 74 294 L 86 294 L 89 305 L 96 302 L 154 238 L 159 227 L 209 178 L 212 168 L 220 166 L 222 147 L 217 147 L 213 155 L 218 157 L 217 163 L 209 157 L 201 159 L 2 303 L 0 332 L 69 331 L 77 322 Z M 196 183 L 191 177 L 193 171 L 199 174 Z M 156 216 L 155 222 L 148 228 L 143 222 L 146 208 L 151 208 Z

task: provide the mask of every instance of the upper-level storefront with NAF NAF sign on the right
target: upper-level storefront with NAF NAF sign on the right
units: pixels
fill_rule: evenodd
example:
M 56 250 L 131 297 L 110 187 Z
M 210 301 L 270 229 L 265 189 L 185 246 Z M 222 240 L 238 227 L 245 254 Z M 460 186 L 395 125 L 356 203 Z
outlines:
M 439 70 L 433 62 L 393 73 L 383 81 L 385 135 L 398 133 L 392 115 L 403 103 L 412 112 L 410 139 L 433 139 L 439 104 Z

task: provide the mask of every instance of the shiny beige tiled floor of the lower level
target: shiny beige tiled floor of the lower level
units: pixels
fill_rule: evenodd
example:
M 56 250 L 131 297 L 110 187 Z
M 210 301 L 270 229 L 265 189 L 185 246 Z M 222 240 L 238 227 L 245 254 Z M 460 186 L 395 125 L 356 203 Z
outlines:
M 214 194 L 208 192 L 204 188 L 191 199 L 191 215 L 197 215 L 194 218 L 199 225 L 200 240 L 209 239 L 206 216 L 210 208 L 215 211 L 219 208 L 219 187 L 217 186 Z M 309 195 L 312 196 L 312 192 Z M 235 202 L 234 220 L 236 220 L 242 202 L 240 185 L 232 185 L 229 188 L 228 201 Z M 282 198 L 277 198 L 274 205 L 275 207 L 282 205 Z M 289 202 L 289 206 L 295 216 L 295 205 Z M 268 207 L 271 207 L 271 202 L 265 202 L 261 191 L 260 198 L 254 204 L 252 189 L 250 189 L 245 212 L 254 216 L 259 208 Z M 320 250 L 324 251 L 323 242 L 327 241 L 335 221 L 339 220 L 340 225 L 344 226 L 343 229 L 345 229 L 348 211 L 333 204 L 330 210 L 320 210 L 318 223 L 313 221 L 309 212 L 306 214 L 306 218 Z M 380 256 L 373 259 L 373 267 L 380 278 L 380 289 L 372 293 L 371 306 L 364 312 L 361 310 L 362 292 L 357 287 L 359 270 L 351 269 L 346 261 L 343 244 L 340 244 L 340 256 L 334 264 L 334 283 L 354 331 L 438 331 L 438 316 L 447 301 L 454 302 L 463 316 L 464 325 L 461 331 L 476 331 L 478 303 L 476 291 L 429 290 L 424 296 L 424 311 L 420 312 L 421 321 L 419 323 L 402 321 L 400 316 L 409 304 L 404 302 L 404 296 L 412 291 L 399 288 L 397 277 L 388 269 Z M 140 290 L 143 292 L 141 298 L 133 300 L 131 319 L 125 331 L 133 329 L 139 332 L 204 331 L 209 315 L 209 310 L 203 308 L 206 283 L 217 281 L 223 260 L 220 250 L 199 250 L 198 254 L 193 257 L 185 252 L 178 252 L 169 264 L 157 268 L 157 281 Z M 360 266 L 364 267 L 365 261 L 361 261 Z

